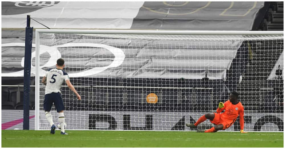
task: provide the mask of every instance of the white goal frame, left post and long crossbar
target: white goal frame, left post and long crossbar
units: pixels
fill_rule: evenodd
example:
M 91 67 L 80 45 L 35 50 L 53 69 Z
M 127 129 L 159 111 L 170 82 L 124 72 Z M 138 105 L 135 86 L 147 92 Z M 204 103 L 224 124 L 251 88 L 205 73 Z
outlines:
M 168 35 L 283 35 L 283 31 L 209 31 L 209 30 L 66 30 L 66 29 L 36 29 L 35 31 L 35 130 L 39 129 L 40 114 L 40 33 L 78 33 L 78 34 L 168 34 Z M 270 131 L 273 132 L 273 131 Z M 280 131 L 279 131 L 280 132 Z

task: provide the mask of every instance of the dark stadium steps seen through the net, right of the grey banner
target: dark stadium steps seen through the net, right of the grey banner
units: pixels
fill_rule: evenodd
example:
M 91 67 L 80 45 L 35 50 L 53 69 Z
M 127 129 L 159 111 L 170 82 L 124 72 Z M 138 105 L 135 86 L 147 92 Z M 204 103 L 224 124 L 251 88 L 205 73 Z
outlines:
M 251 47 L 255 47 L 252 48 L 253 58 L 246 66 L 243 81 L 238 85 L 237 92 L 240 93 L 239 99 L 245 110 L 260 110 L 262 106 L 266 106 L 260 106 L 260 88 L 273 88 L 272 85 L 276 84 L 267 78 L 282 53 L 283 41 L 256 41 L 251 43 Z M 274 99 L 273 96 L 270 98 Z

